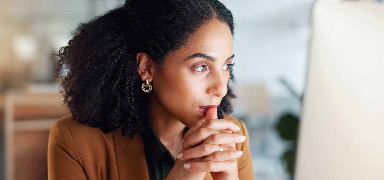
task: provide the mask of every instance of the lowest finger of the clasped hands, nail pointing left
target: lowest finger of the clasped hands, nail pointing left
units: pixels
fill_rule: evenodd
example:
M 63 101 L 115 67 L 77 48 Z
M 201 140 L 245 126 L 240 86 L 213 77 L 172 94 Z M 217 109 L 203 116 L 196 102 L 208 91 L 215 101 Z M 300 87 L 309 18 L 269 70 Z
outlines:
M 236 166 L 236 159 L 221 162 L 205 161 L 184 164 L 184 168 L 192 172 L 229 172 L 230 169 L 236 168 Z

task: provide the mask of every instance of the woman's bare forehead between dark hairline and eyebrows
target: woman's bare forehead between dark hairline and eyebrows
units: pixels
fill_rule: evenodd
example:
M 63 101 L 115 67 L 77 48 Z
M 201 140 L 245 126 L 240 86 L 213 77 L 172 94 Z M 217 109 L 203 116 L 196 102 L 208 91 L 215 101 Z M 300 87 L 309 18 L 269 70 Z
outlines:
M 217 58 L 228 58 L 232 52 L 232 33 L 226 23 L 210 20 L 191 36 L 188 43 L 169 56 L 186 58 L 194 53 L 205 53 Z

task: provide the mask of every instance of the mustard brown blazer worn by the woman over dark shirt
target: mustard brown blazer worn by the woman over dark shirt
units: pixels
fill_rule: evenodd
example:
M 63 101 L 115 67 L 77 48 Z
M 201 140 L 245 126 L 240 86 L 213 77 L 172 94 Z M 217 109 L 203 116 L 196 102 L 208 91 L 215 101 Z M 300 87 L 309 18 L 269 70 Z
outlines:
M 240 180 L 253 180 L 249 135 L 243 121 L 223 114 L 247 136 L 236 144 L 243 155 L 237 159 Z M 49 180 L 149 180 L 144 145 L 137 133 L 123 137 L 121 127 L 104 134 L 101 129 L 73 121 L 71 114 L 51 127 L 48 140 Z M 213 180 L 209 172 L 204 180 Z

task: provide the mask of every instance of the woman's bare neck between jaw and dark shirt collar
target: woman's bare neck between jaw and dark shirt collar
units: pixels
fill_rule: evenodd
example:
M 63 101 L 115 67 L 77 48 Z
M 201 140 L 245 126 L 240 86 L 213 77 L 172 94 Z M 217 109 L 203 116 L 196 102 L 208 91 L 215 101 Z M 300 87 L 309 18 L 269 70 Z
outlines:
M 185 125 L 167 111 L 156 97 L 151 96 L 152 126 L 168 150 L 179 149 Z M 176 137 L 176 138 L 175 138 Z

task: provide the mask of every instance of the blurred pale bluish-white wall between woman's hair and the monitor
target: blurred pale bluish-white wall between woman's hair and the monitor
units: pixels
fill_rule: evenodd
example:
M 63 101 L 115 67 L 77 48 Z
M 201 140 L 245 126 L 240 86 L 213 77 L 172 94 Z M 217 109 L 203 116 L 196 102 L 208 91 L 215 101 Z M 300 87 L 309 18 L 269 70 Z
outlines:
M 235 79 L 266 83 L 268 96 L 291 96 L 282 76 L 304 88 L 313 0 L 221 0 L 235 18 Z

